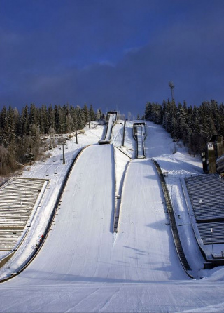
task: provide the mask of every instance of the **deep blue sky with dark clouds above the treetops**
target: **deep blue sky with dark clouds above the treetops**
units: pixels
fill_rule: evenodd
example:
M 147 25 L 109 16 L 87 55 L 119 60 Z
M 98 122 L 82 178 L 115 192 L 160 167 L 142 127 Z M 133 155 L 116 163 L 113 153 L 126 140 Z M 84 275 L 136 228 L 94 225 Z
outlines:
M 0 0 L 0 106 L 224 101 L 223 0 Z

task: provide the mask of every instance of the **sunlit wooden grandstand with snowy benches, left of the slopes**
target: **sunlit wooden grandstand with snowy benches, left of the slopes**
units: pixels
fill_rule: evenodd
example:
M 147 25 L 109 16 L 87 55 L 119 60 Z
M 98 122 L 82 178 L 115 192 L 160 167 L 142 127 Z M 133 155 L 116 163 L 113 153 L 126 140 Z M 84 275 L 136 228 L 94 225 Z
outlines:
M 48 180 L 12 178 L 0 188 L 0 250 L 17 246 L 30 226 Z

